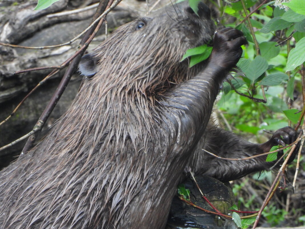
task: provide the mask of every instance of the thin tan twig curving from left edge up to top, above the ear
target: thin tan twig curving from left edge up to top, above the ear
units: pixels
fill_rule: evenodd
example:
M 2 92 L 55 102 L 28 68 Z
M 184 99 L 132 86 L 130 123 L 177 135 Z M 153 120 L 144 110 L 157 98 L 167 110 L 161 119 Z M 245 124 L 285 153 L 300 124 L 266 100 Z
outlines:
M 95 24 L 101 20 L 102 17 L 104 17 L 105 15 L 107 15 L 109 13 L 109 11 L 111 11 L 113 9 L 113 7 L 115 7 L 119 2 L 121 2 L 122 0 L 115 0 L 112 1 L 113 5 L 111 5 L 111 7 L 109 7 L 104 13 L 102 13 L 98 18 L 96 18 L 93 22 L 91 22 L 90 26 L 88 26 L 84 31 L 82 31 L 79 35 L 77 35 L 76 37 L 74 37 L 72 40 L 63 43 L 63 44 L 59 44 L 59 45 L 50 45 L 50 46 L 40 46 L 40 47 L 28 47 L 28 46 L 20 46 L 20 45 L 11 45 L 11 44 L 6 44 L 6 43 L 2 43 L 0 42 L 0 45 L 3 46 L 9 46 L 9 47 L 14 47 L 14 48 L 22 48 L 22 49 L 52 49 L 52 48 L 58 48 L 61 46 L 65 46 L 65 45 L 70 45 L 71 43 L 73 43 L 74 41 L 76 41 L 78 38 L 80 38 L 82 35 L 84 35 L 87 31 L 91 30 L 93 27 L 95 27 Z M 103 11 L 101 11 L 103 12 Z M 93 28 L 94 29 L 94 28 Z

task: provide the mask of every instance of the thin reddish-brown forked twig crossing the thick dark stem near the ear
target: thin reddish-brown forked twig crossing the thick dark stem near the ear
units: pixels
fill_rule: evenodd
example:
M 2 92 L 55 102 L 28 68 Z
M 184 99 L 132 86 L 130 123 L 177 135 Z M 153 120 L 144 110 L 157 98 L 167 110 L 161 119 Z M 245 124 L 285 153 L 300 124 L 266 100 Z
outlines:
M 109 7 L 102 15 L 105 15 L 105 13 L 108 13 L 110 10 L 109 9 L 113 9 L 119 2 L 119 1 L 115 1 L 113 5 L 111 5 L 111 7 Z M 87 48 L 88 44 L 91 41 L 88 40 L 88 42 L 86 42 L 76 53 L 73 54 L 73 56 L 71 56 L 69 59 L 67 59 L 63 64 L 59 65 L 59 66 L 51 66 L 52 68 L 57 68 L 57 69 L 62 69 L 63 67 L 65 67 L 71 60 L 73 60 L 78 54 L 80 54 L 85 48 Z M 88 44 L 87 44 L 88 43 Z M 41 67 L 43 68 L 43 67 Z M 49 67 L 47 67 L 49 68 Z M 31 69 L 26 69 L 26 70 L 22 70 L 22 71 L 17 71 L 14 72 L 14 74 L 18 74 L 21 72 L 27 72 L 27 71 L 34 71 L 34 70 L 41 70 L 38 68 L 31 68 Z M 7 120 L 9 120 L 9 118 L 11 118 L 13 115 L 15 115 L 16 111 L 18 110 L 18 108 L 20 107 L 21 104 L 23 104 L 23 102 L 28 98 L 28 96 L 33 93 L 42 83 L 44 83 L 48 78 L 50 78 L 51 76 L 53 76 L 54 74 L 56 74 L 58 71 L 53 70 L 46 78 L 44 78 L 41 82 L 39 82 L 38 85 L 36 85 L 36 87 L 34 89 L 32 89 L 32 91 L 27 94 L 27 96 L 25 98 L 23 98 L 23 100 L 17 105 L 17 107 L 14 109 L 14 111 L 7 117 L 5 118 L 5 120 L 3 120 L 0 125 L 2 125 L 3 123 L 5 123 Z M 1 148 L 0 148 L 1 151 Z

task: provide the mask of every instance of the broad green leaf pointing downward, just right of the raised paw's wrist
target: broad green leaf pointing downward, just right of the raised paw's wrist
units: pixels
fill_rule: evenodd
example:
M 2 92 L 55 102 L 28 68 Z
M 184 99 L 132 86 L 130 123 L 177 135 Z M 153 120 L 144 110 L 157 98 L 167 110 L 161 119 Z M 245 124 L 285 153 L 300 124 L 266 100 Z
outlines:
M 267 60 L 262 56 L 256 56 L 254 60 L 249 64 L 245 74 L 252 83 L 260 77 L 268 68 Z

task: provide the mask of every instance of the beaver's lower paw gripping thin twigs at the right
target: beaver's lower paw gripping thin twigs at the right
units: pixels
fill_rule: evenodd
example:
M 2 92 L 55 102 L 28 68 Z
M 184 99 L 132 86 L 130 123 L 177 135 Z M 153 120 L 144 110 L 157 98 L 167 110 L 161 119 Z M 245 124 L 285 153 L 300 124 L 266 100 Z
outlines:
M 298 137 L 298 133 L 291 128 L 290 126 L 286 126 L 284 128 L 278 129 L 275 131 L 275 133 L 272 135 L 271 139 L 264 144 L 261 144 L 260 147 L 264 152 L 269 152 L 271 147 L 276 145 L 286 146 L 291 143 L 293 143 Z M 296 156 L 296 153 L 299 150 L 300 144 L 297 145 L 295 150 L 293 151 L 293 154 L 289 158 L 289 162 L 292 162 L 293 159 Z M 283 151 L 279 151 L 278 158 L 280 158 L 283 155 Z

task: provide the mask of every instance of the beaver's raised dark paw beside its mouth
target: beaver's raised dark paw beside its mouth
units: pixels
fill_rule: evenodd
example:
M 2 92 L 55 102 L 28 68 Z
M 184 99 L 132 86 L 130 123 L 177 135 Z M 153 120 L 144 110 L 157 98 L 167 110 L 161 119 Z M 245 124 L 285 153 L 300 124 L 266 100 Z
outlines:
M 247 40 L 241 31 L 231 27 L 221 29 L 215 33 L 213 38 L 211 60 L 218 66 L 230 70 L 242 55 L 240 46 L 246 44 Z

